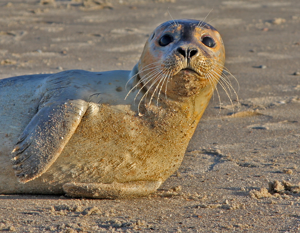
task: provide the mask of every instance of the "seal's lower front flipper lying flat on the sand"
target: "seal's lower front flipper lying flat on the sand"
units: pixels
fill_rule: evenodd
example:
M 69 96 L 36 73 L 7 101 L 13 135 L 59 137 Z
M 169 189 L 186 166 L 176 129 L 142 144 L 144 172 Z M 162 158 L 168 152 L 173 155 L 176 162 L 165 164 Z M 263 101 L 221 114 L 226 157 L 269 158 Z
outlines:
M 156 191 L 163 181 L 141 180 L 126 183 L 66 183 L 67 196 L 98 199 L 119 199 L 146 196 Z

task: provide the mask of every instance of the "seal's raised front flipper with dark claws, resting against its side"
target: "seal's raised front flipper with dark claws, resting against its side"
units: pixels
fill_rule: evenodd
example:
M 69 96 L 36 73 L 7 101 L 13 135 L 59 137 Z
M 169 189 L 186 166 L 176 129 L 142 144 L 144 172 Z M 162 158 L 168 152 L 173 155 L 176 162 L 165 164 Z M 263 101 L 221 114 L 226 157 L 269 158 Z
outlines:
M 35 179 L 55 161 L 76 130 L 88 104 L 83 100 L 43 103 L 12 151 L 20 182 Z

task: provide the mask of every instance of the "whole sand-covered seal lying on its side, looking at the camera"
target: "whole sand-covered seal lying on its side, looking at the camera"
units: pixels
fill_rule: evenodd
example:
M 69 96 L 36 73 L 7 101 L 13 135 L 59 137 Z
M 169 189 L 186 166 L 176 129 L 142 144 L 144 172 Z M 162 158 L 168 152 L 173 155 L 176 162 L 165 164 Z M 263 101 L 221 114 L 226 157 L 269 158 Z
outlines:
M 216 29 L 182 19 L 154 30 L 132 71 L 0 80 L 0 193 L 154 192 L 180 166 L 224 60 Z

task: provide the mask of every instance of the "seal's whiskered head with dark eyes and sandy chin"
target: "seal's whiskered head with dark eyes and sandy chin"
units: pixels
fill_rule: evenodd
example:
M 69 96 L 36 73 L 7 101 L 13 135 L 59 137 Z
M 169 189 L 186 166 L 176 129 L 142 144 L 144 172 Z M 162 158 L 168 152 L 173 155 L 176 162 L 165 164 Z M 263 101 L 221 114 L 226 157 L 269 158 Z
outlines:
M 145 97 L 157 92 L 184 100 L 207 85 L 213 90 L 224 61 L 223 41 L 214 27 L 199 20 L 168 21 L 146 41 L 133 75 L 146 90 Z

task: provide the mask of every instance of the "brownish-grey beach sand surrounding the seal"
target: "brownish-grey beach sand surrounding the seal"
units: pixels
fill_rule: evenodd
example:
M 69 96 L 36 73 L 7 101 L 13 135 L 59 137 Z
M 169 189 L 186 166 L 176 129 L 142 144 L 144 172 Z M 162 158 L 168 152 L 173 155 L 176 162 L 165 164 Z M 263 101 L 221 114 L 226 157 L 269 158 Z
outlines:
M 212 8 L 238 114 L 219 86 L 221 110 L 215 92 L 179 171 L 150 197 L 0 195 L 0 231 L 300 231 L 299 0 L 1 0 L 0 78 L 131 69 L 168 10 L 203 19 Z

